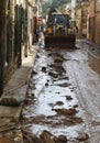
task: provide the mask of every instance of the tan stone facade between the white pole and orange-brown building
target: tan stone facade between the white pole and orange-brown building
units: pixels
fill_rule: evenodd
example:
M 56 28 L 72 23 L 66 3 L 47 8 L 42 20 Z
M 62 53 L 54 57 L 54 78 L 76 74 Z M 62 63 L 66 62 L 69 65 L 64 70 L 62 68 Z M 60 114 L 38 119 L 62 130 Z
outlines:
M 71 8 L 69 7 L 70 13 Z M 76 1 L 75 7 L 75 23 L 78 26 L 77 38 L 87 38 L 88 30 L 88 12 L 89 12 L 89 0 Z

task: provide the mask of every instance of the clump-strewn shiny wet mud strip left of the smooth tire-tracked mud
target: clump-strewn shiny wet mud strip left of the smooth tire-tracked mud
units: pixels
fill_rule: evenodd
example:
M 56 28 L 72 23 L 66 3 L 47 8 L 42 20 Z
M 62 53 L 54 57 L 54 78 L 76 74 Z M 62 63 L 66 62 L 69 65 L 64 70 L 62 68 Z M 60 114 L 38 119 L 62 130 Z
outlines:
M 69 61 L 66 50 L 40 48 L 22 111 L 24 142 L 89 143 L 77 87 L 64 66 Z

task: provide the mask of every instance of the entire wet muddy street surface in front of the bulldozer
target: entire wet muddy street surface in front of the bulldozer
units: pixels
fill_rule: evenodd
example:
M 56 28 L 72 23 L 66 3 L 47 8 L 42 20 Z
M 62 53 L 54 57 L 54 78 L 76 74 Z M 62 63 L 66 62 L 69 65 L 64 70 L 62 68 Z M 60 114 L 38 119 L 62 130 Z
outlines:
M 21 117 L 24 143 L 99 143 L 99 99 L 87 47 L 40 47 Z

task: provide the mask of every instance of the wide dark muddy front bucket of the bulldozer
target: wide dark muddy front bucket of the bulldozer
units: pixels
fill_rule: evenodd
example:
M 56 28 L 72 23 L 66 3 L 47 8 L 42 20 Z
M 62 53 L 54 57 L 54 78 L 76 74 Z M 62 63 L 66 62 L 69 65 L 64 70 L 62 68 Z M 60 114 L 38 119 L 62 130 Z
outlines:
M 45 35 L 45 47 L 71 47 L 75 48 L 76 36 L 75 35 Z

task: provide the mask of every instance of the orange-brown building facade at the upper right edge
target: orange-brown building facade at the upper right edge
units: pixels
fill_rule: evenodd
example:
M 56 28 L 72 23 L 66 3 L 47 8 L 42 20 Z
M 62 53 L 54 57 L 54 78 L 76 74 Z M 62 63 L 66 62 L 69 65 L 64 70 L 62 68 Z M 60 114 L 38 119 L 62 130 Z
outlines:
M 90 0 L 88 40 L 100 44 L 100 0 Z

